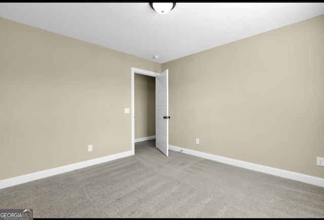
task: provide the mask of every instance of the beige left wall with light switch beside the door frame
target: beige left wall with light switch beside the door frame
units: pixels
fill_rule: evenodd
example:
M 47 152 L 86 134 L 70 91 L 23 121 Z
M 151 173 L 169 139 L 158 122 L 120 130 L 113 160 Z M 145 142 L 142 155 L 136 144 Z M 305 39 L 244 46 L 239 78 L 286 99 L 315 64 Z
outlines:
M 132 67 L 161 65 L 0 18 L 0 180 L 131 151 Z

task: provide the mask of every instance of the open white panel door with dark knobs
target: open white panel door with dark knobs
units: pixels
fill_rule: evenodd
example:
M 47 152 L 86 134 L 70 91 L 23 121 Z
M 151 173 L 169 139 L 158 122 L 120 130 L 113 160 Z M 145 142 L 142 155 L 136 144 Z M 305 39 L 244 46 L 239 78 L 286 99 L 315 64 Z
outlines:
M 155 145 L 169 156 L 169 83 L 168 70 L 155 78 L 156 128 Z

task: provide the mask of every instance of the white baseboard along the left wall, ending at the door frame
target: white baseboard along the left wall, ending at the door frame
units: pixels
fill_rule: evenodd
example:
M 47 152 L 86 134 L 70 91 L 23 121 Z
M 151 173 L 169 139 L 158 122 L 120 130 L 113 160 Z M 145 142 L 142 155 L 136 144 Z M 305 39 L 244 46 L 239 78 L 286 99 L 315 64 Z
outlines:
M 22 184 L 22 183 L 27 183 L 27 182 L 33 181 L 33 180 L 38 180 L 38 179 L 54 176 L 57 174 L 66 173 L 69 171 L 74 171 L 77 169 L 90 167 L 90 166 L 93 166 L 93 165 L 96 165 L 99 163 L 108 162 L 111 160 L 123 158 L 126 156 L 131 156 L 131 155 L 134 155 L 132 153 L 132 151 L 126 151 L 123 153 L 117 153 L 117 154 L 104 156 L 104 157 L 100 157 L 100 158 L 96 158 L 96 159 L 91 159 L 91 160 L 87 160 L 87 161 L 83 161 L 83 162 L 73 163 L 73 164 L 63 166 L 63 167 L 53 168 L 50 170 L 39 171 L 39 172 L 26 174 L 26 175 L 19 176 L 19 177 L 0 180 L 0 189 L 7 188 L 10 186 L 15 186 L 15 185 Z

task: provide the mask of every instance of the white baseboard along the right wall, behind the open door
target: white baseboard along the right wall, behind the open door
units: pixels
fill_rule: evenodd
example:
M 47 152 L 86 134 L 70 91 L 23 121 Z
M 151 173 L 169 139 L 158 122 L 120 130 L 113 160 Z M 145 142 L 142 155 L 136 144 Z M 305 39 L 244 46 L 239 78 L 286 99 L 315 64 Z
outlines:
M 259 165 L 256 163 L 250 163 L 250 162 L 245 162 L 245 161 L 241 161 L 241 160 L 237 160 L 237 159 L 231 159 L 228 157 L 217 156 L 214 154 L 199 152 L 199 151 L 190 150 L 190 149 L 177 147 L 177 146 L 173 146 L 173 145 L 169 145 L 169 149 L 178 151 L 178 152 L 181 151 L 181 153 L 186 153 L 186 154 L 199 156 L 199 157 L 203 157 L 206 159 L 230 164 L 230 165 L 240 167 L 240 168 L 246 168 L 246 169 L 253 170 L 253 171 L 258 171 L 258 172 L 271 174 L 271 175 L 278 176 L 278 177 L 283 177 L 283 178 L 287 178 L 287 179 L 291 179 L 291 180 L 297 180 L 300 182 L 324 187 L 324 179 L 318 178 L 318 177 L 308 176 L 305 174 L 299 174 L 299 173 L 286 171 L 286 170 L 280 170 L 280 169 L 276 169 L 276 168 Z

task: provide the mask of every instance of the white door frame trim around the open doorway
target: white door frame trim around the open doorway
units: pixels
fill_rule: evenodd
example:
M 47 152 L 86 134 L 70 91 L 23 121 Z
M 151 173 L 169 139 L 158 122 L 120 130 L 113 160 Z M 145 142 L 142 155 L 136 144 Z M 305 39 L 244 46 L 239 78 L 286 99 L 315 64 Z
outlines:
M 152 71 L 142 70 L 132 67 L 132 106 L 131 106 L 131 118 L 132 118 L 132 154 L 135 154 L 135 73 L 146 76 L 157 77 L 159 73 Z M 156 91 L 155 91 L 156 92 Z M 156 95 L 156 94 L 155 94 Z M 155 121 L 156 121 L 156 100 L 155 100 Z

